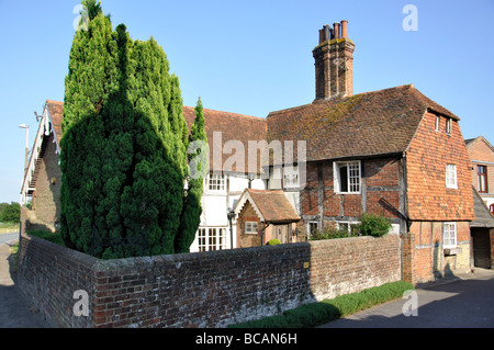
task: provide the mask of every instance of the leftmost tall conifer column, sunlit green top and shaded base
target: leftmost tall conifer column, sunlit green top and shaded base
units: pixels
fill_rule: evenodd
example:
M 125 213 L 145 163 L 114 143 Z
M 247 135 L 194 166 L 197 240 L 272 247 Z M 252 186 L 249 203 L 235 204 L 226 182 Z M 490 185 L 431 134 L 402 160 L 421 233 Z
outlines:
M 65 79 L 60 142 L 60 232 L 67 246 L 89 251 L 102 190 L 100 156 L 105 144 L 102 103 L 117 87 L 116 47 L 100 3 L 82 1 L 87 30 L 77 31 Z

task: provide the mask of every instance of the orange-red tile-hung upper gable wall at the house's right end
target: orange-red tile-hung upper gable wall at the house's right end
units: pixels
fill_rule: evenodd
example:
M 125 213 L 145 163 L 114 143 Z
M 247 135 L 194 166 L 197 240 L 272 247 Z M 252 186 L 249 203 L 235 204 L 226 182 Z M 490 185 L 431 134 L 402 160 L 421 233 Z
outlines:
M 408 217 L 417 221 L 472 221 L 471 163 L 458 122 L 448 135 L 446 118 L 426 113 L 406 153 Z M 457 166 L 458 189 L 446 188 L 446 165 Z

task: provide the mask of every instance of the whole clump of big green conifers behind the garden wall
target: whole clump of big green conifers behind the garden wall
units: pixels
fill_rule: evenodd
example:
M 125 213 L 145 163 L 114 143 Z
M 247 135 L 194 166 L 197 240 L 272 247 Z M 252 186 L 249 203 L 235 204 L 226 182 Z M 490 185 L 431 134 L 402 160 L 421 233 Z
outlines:
M 123 24 L 113 31 L 99 3 L 82 3 L 88 30 L 76 33 L 66 77 L 61 236 L 103 258 L 172 253 L 187 197 L 178 78 L 156 41 L 133 41 Z

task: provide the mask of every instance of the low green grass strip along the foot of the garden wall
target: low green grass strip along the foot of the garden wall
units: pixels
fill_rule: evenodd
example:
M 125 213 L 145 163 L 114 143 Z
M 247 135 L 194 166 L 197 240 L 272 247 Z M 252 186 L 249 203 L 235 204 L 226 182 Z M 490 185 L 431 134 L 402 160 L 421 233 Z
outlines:
M 403 296 L 413 290 L 412 283 L 397 281 L 358 293 L 340 295 L 332 300 L 311 303 L 283 312 L 280 315 L 250 320 L 228 328 L 310 328 L 345 317 L 362 309 L 383 304 Z

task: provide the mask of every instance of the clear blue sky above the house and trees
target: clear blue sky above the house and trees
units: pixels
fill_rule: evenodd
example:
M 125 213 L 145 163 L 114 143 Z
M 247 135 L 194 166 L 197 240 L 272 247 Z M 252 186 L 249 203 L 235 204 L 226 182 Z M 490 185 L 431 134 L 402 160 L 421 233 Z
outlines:
M 0 0 L 0 202 L 20 201 L 30 147 L 47 99 L 64 101 L 76 0 Z M 418 10 L 417 31 L 404 31 Z M 353 92 L 414 83 L 461 117 L 464 138 L 494 143 L 494 1 L 102 0 L 113 26 L 153 36 L 180 78 L 183 102 L 266 117 L 312 102 L 318 30 L 348 20 Z

